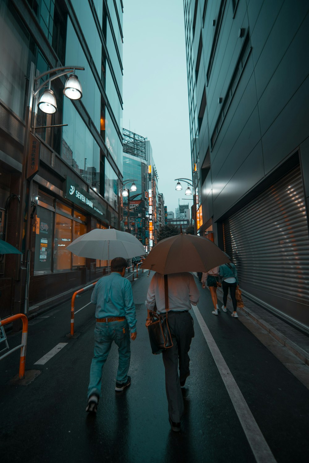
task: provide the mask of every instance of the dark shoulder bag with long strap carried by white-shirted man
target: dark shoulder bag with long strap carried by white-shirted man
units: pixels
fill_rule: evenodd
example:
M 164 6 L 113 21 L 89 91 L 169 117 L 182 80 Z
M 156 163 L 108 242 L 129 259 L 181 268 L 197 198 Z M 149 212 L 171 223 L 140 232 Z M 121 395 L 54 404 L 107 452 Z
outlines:
M 167 275 L 164 275 L 164 295 L 166 313 L 157 313 L 156 306 L 155 310 L 149 311 L 149 317 L 151 319 L 151 322 L 148 325 L 148 334 L 151 350 L 154 355 L 161 354 L 163 350 L 169 349 L 173 346 L 173 341 L 170 334 L 170 328 L 167 319 L 167 312 L 169 310 Z

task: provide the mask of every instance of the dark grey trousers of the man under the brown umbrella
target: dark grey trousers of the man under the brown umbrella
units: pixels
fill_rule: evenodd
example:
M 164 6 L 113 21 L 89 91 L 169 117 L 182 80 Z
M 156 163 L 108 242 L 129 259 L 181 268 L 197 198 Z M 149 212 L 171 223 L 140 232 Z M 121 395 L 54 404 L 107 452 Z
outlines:
M 179 423 L 183 416 L 183 395 L 180 379 L 184 380 L 190 374 L 188 352 L 191 339 L 194 337 L 193 319 L 189 312 L 169 312 L 168 324 L 174 345 L 162 353 L 165 368 L 165 389 L 169 404 L 169 417 L 172 421 Z

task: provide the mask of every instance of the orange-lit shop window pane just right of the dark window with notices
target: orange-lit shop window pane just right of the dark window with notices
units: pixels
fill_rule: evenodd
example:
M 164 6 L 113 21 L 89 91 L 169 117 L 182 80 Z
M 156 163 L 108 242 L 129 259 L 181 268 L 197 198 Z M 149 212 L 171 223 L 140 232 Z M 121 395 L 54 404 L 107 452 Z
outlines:
M 54 271 L 70 270 L 72 253 L 66 248 L 72 240 L 72 220 L 56 214 Z

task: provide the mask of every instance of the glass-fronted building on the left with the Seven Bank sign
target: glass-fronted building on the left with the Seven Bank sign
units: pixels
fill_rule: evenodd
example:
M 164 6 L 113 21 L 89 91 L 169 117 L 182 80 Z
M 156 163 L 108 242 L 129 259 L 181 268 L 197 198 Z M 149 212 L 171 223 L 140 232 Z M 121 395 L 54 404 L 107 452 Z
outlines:
M 119 228 L 122 16 L 122 0 L 0 2 L 0 238 L 24 253 L 18 265 L 11 256 L 1 259 L 6 309 L 0 317 L 19 312 L 25 286 L 26 304 L 34 310 L 104 272 L 104 261 L 74 256 L 66 248 L 94 228 Z M 36 75 L 63 66 L 85 70 L 76 70 L 80 100 L 64 97 L 68 76 L 51 81 L 57 112 L 38 110 L 31 132 L 40 145 L 39 168 L 29 180 L 23 175 L 31 63 Z M 19 203 L 23 188 L 28 215 Z

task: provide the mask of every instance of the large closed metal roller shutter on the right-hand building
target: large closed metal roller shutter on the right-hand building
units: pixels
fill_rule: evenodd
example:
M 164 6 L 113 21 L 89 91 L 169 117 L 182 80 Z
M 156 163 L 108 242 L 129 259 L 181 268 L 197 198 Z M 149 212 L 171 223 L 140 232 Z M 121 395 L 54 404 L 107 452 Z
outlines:
M 309 326 L 309 236 L 300 166 L 224 222 L 240 287 L 265 307 Z

